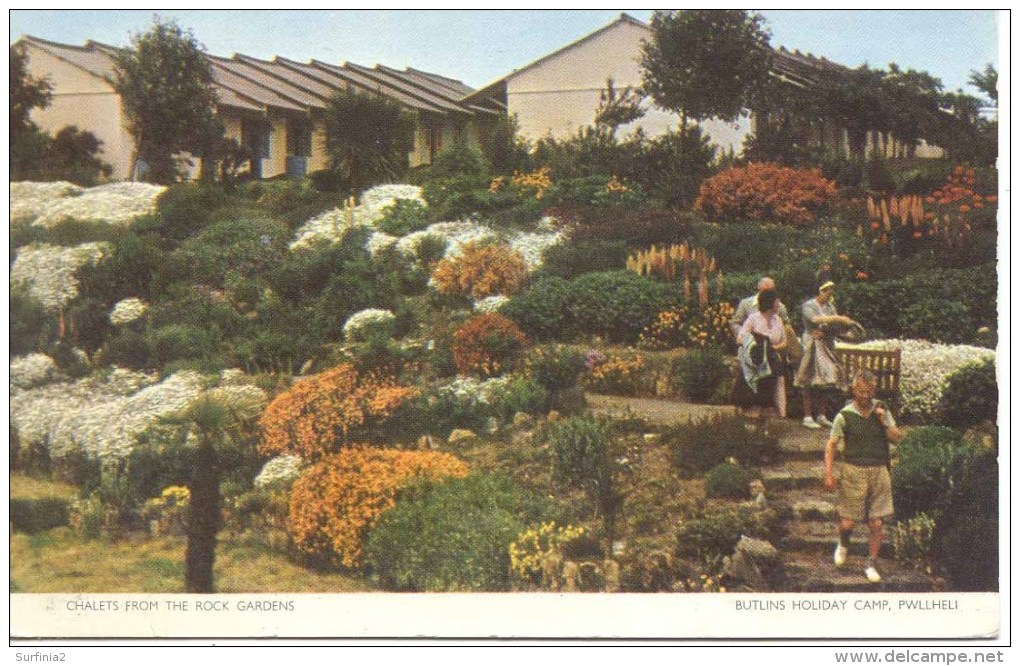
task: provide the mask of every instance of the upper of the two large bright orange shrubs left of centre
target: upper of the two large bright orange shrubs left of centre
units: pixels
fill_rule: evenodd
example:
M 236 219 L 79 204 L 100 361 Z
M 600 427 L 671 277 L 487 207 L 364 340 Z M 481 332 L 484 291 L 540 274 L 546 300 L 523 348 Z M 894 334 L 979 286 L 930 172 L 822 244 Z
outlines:
M 259 418 L 259 452 L 312 460 L 335 453 L 416 393 L 392 379 L 359 376 L 350 363 L 338 365 L 269 403 Z

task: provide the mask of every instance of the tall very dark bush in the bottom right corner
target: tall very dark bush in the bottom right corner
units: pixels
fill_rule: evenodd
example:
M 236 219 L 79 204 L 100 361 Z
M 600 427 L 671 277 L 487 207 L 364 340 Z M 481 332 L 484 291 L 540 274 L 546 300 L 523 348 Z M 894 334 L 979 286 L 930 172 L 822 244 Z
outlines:
M 932 552 L 955 592 L 998 592 L 998 451 L 971 461 L 935 524 Z

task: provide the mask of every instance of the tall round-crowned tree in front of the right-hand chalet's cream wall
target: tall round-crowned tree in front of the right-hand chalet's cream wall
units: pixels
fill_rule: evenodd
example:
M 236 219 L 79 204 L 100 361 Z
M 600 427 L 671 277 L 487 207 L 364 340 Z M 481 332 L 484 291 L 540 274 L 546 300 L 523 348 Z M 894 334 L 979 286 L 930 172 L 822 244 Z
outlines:
M 688 119 L 735 120 L 767 85 L 769 33 L 757 12 L 676 9 L 652 15 L 641 66 L 645 92 Z

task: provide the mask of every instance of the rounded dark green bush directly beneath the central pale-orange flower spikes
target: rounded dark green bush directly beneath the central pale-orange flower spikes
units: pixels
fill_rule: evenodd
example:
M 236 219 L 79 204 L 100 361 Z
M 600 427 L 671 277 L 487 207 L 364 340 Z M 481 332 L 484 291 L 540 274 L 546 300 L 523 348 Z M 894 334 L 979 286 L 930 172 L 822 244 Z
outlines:
M 589 273 L 570 283 L 567 308 L 578 330 L 632 343 L 671 297 L 669 286 L 630 271 Z

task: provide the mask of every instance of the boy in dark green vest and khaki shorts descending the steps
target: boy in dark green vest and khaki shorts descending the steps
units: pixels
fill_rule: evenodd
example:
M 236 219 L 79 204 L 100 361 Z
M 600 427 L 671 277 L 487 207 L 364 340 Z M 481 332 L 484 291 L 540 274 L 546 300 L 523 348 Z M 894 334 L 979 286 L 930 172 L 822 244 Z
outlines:
M 889 445 L 902 438 L 892 414 L 875 400 L 875 375 L 862 371 L 854 377 L 854 399 L 836 414 L 825 443 L 825 488 L 835 490 L 832 473 L 836 453 L 840 457 L 838 481 L 839 533 L 832 559 L 837 567 L 847 563 L 854 525 L 867 522 L 868 561 L 864 575 L 880 582 L 878 551 L 882 544 L 882 521 L 892 516 L 892 483 L 889 477 Z

